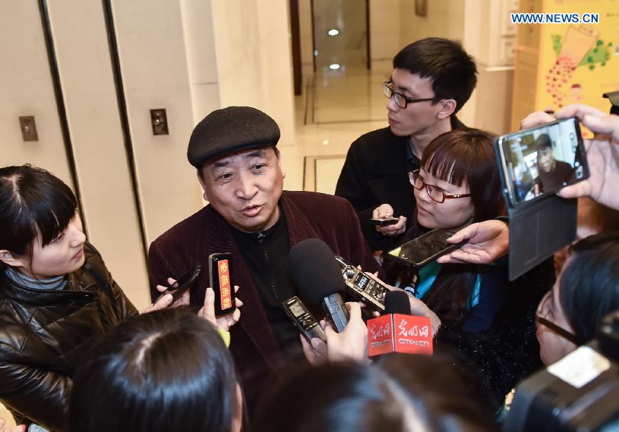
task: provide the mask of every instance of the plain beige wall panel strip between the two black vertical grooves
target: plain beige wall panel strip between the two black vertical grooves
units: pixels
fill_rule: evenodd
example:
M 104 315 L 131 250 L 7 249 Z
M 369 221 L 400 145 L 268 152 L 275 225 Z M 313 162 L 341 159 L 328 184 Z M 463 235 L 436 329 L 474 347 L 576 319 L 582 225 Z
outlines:
M 149 298 L 146 263 L 102 3 L 66 0 L 49 5 L 89 240 L 124 292 L 142 308 Z

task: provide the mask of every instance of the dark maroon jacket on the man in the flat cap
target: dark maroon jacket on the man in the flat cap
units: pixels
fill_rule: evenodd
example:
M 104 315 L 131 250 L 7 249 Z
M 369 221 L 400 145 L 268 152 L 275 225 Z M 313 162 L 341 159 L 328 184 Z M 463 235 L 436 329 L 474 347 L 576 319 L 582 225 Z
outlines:
M 349 262 L 360 264 L 366 271 L 379 270 L 365 244 L 354 209 L 345 199 L 315 192 L 284 191 L 280 205 L 291 247 L 307 238 L 320 238 Z M 226 220 L 207 205 L 153 242 L 149 250 L 149 277 L 151 294 L 156 295 L 155 286 L 169 275 L 182 275 L 196 263 L 208 269 L 210 253 L 232 253 L 234 283 L 239 286 L 237 297 L 243 301 L 243 307 L 239 323 L 230 329 L 230 352 L 251 413 L 285 360 L 230 229 Z M 202 271 L 191 291 L 193 306 L 204 302 L 207 286 L 208 271 Z

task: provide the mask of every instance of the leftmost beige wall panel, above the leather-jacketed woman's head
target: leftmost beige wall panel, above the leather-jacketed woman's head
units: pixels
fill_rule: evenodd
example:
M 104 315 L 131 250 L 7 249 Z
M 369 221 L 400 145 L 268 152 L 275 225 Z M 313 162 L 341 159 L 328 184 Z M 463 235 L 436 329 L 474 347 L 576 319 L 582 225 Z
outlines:
M 0 166 L 32 163 L 72 186 L 36 1 L 0 2 L 0 58 Z M 39 141 L 23 141 L 21 115 Z

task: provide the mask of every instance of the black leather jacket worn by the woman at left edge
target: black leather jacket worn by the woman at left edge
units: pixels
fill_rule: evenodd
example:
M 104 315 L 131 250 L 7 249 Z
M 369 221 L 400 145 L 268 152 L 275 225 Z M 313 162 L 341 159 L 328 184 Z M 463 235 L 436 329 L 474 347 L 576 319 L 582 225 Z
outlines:
M 84 255 L 61 291 L 20 286 L 0 269 L 0 402 L 17 424 L 62 429 L 80 357 L 138 313 L 89 243 Z

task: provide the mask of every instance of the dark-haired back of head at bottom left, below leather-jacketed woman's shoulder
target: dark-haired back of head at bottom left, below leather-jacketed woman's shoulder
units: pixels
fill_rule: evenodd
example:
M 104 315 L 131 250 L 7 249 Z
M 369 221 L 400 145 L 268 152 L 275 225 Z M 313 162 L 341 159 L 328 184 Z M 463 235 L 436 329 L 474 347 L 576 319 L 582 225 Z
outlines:
M 78 367 L 68 431 L 229 432 L 232 358 L 188 308 L 138 315 L 107 332 Z

